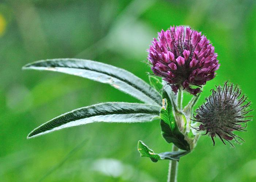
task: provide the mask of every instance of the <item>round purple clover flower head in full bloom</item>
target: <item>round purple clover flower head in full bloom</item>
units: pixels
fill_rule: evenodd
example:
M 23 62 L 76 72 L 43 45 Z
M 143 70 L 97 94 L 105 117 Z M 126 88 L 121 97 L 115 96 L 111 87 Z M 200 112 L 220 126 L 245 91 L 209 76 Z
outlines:
M 184 26 L 170 27 L 158 32 L 147 50 L 151 70 L 171 85 L 177 93 L 180 87 L 193 95 L 215 77 L 218 70 L 217 54 L 201 32 Z M 191 86 L 197 86 L 192 88 Z

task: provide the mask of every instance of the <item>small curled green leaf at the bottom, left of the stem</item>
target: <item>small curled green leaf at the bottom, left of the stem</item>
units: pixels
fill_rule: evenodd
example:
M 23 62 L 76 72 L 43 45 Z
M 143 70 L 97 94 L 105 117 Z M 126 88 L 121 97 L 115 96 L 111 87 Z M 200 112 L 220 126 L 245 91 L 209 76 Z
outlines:
M 157 162 L 158 160 L 174 160 L 179 161 L 180 157 L 189 153 L 189 151 L 173 151 L 173 152 L 164 152 L 160 154 L 155 154 L 152 149 L 149 149 L 142 141 L 138 141 L 138 151 L 141 154 L 141 157 L 149 157 L 152 162 Z

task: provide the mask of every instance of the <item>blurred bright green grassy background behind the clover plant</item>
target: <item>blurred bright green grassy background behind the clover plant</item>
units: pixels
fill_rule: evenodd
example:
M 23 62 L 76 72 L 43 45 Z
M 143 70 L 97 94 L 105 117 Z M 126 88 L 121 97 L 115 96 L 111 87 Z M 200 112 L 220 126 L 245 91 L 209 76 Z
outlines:
M 202 97 L 225 80 L 256 95 L 253 0 L 6 0 L 0 3 L 0 181 L 166 181 L 169 161 L 141 158 L 138 140 L 170 151 L 152 123 L 94 123 L 30 140 L 27 134 L 64 112 L 99 102 L 139 102 L 109 85 L 53 72 L 22 71 L 47 58 L 84 58 L 127 69 L 148 82 L 143 63 L 152 37 L 190 25 L 212 41 L 221 63 Z M 197 104 L 197 105 L 198 105 Z M 256 124 L 236 149 L 202 136 L 179 162 L 178 181 L 256 181 Z

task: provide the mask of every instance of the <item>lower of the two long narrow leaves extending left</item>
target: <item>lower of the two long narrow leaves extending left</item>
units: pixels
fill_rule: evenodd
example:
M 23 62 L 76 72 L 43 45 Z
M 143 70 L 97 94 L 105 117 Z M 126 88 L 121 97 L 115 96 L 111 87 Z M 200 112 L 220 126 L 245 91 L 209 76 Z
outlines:
M 67 112 L 42 124 L 31 131 L 28 138 L 92 122 L 148 122 L 159 117 L 160 109 L 161 107 L 157 105 L 139 103 L 107 102 L 95 104 Z

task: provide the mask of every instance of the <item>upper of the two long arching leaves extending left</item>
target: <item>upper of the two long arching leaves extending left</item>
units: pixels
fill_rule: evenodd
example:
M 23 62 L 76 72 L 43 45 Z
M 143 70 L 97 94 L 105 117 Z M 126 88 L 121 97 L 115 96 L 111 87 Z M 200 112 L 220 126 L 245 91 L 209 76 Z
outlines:
M 148 83 L 129 71 L 91 60 L 84 59 L 46 59 L 27 64 L 23 69 L 57 71 L 81 76 L 110 84 L 147 104 L 161 106 L 161 96 Z

